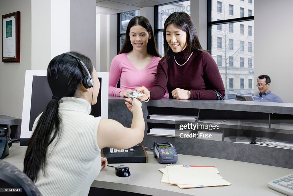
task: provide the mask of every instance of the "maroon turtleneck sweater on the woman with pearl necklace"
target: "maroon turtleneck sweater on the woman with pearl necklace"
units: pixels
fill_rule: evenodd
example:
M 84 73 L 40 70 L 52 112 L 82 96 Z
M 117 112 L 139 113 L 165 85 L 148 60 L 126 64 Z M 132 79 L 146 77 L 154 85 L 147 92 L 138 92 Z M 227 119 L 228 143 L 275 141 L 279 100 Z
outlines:
M 180 65 L 186 62 L 185 56 L 190 55 L 185 53 L 186 49 L 179 53 L 173 53 Z M 190 91 L 190 99 L 217 99 L 212 89 L 216 89 L 224 97 L 225 87 L 222 77 L 216 62 L 209 53 L 193 52 L 193 55 L 183 66 L 175 63 L 174 56 L 171 56 L 168 61 L 163 62 L 165 57 L 159 61 L 156 83 L 149 89 L 151 99 L 163 98 L 166 87 L 170 98 L 173 98 L 171 91 L 176 88 Z

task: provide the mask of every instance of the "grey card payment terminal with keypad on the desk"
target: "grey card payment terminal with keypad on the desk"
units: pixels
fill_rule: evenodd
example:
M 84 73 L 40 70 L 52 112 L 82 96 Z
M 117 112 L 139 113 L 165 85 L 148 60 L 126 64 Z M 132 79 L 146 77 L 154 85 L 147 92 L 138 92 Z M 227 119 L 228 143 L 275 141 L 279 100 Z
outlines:
M 178 160 L 175 147 L 168 142 L 154 142 L 154 157 L 160 163 L 176 163 Z

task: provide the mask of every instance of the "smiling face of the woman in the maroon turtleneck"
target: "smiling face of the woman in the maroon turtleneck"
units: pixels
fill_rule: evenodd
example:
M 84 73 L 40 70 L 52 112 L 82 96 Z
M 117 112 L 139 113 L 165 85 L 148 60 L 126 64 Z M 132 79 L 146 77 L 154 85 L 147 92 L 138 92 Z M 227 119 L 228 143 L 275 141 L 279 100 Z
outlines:
M 173 52 L 183 51 L 187 46 L 187 33 L 178 29 L 173 24 L 166 28 L 166 40 Z

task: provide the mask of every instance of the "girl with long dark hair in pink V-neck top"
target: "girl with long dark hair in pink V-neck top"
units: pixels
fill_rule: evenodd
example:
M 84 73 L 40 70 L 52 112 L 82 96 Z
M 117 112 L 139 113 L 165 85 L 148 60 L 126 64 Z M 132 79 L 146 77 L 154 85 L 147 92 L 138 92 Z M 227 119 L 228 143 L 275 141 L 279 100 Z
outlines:
M 122 49 L 111 63 L 109 96 L 128 97 L 137 86 L 154 86 L 159 60 L 161 55 L 149 20 L 135 16 L 127 25 Z M 120 88 L 116 88 L 119 78 Z M 164 98 L 169 98 L 168 92 Z

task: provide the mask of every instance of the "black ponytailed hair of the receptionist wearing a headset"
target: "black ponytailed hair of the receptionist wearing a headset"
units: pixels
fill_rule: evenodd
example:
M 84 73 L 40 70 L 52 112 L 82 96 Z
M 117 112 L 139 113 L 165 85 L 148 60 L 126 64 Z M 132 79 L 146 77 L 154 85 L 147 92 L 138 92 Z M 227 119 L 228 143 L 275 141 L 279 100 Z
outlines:
M 70 52 L 84 62 L 88 71 L 93 72 L 91 60 L 77 52 Z M 73 97 L 84 77 L 86 70 L 72 56 L 61 54 L 54 57 L 47 68 L 47 80 L 53 96 L 56 98 Z M 47 148 L 57 136 L 60 136 L 61 119 L 58 115 L 58 100 L 53 99 L 48 103 L 28 141 L 28 148 L 24 158 L 23 172 L 32 181 L 38 179 L 38 173 L 45 173 Z

